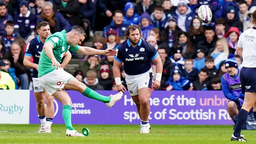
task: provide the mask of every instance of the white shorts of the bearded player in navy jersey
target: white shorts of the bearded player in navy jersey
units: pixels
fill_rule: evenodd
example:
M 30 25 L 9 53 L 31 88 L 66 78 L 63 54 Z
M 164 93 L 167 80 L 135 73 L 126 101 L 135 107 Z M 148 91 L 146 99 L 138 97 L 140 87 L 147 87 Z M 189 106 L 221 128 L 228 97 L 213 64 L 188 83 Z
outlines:
M 150 68 L 147 72 L 139 75 L 125 74 L 125 81 L 130 95 L 138 95 L 140 88 L 152 88 L 151 86 L 153 82 L 153 71 Z

